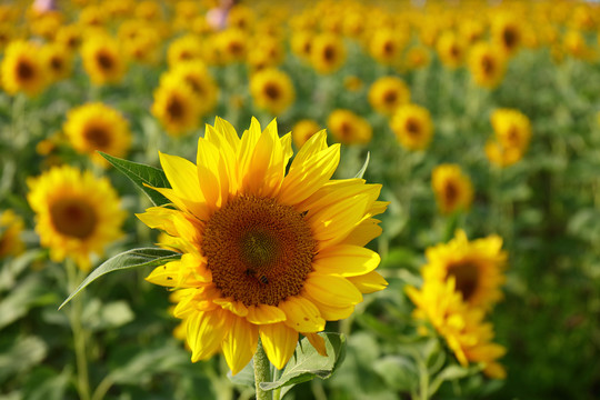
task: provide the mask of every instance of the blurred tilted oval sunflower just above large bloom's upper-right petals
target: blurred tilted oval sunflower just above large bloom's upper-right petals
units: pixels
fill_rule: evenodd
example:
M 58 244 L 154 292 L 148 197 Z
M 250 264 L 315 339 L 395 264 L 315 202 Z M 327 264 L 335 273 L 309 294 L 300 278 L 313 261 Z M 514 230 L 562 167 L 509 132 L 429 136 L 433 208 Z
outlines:
M 327 119 L 327 127 L 331 136 L 343 144 L 366 144 L 373 136 L 369 122 L 350 110 L 333 110 Z

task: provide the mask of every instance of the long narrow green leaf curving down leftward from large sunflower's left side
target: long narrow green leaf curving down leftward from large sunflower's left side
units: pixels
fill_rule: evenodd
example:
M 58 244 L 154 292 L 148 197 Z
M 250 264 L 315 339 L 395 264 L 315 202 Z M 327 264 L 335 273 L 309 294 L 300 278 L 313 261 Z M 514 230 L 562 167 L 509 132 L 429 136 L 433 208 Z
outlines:
M 64 307 L 73 297 L 83 290 L 88 284 L 100 278 L 101 276 L 128 268 L 141 268 L 141 267 L 158 267 L 169 261 L 178 260 L 181 258 L 181 253 L 176 251 L 160 249 L 160 248 L 141 248 L 124 251 L 117 254 L 100 267 L 94 269 L 81 284 L 60 304 L 59 310 Z

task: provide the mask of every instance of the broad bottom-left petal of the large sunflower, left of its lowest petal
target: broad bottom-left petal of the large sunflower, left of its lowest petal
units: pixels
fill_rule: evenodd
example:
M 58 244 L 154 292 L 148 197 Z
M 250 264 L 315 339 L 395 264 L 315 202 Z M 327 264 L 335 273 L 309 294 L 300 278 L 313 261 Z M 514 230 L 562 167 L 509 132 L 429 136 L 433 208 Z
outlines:
M 230 312 L 220 308 L 214 311 L 192 313 L 187 321 L 188 346 L 192 350 L 192 362 L 206 360 L 221 348 L 227 328 L 231 323 Z

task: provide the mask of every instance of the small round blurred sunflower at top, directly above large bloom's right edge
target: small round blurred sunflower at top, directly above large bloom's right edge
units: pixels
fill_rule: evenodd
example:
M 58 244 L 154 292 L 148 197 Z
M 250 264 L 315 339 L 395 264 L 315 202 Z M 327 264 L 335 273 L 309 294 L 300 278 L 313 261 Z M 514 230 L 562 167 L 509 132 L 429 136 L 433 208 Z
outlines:
M 317 34 L 310 46 L 312 68 L 319 73 L 332 73 L 346 62 L 346 46 L 341 37 L 333 33 Z

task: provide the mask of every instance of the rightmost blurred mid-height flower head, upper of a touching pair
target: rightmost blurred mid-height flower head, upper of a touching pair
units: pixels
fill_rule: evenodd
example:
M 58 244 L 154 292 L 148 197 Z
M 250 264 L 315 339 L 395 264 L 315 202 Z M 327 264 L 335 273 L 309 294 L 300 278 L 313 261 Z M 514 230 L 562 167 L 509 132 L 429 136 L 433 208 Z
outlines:
M 513 109 L 497 109 L 491 114 L 491 124 L 496 138 L 504 148 L 526 152 L 531 140 L 531 123 L 526 114 Z

